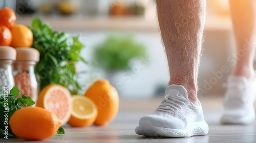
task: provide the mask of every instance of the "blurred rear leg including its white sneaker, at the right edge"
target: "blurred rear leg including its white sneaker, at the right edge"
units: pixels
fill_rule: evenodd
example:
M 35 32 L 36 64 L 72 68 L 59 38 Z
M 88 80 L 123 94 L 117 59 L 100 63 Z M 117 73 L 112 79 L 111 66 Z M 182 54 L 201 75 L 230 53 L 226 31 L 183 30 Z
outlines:
M 254 121 L 253 56 L 255 52 L 255 1 L 230 0 L 233 29 L 237 41 L 237 63 L 228 77 L 222 124 L 250 124 Z M 241 88 L 242 87 L 242 88 Z

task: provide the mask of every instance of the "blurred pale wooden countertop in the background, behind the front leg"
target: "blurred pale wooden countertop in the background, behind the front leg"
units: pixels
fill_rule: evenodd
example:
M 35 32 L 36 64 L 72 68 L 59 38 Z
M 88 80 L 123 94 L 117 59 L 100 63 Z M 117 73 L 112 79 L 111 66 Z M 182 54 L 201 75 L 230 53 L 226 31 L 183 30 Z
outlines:
M 31 25 L 33 17 L 40 17 L 48 21 L 53 29 L 65 31 L 98 31 L 98 30 L 124 30 L 158 32 L 157 19 L 144 17 L 108 17 L 108 16 L 46 16 L 25 15 L 17 16 L 16 23 Z M 206 16 L 205 30 L 231 30 L 231 20 L 227 16 Z

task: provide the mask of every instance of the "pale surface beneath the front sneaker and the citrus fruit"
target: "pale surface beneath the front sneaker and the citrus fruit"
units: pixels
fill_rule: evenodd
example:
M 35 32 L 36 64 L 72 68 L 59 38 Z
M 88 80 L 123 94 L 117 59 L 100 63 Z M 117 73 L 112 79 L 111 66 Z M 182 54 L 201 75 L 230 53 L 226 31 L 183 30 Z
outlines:
M 65 135 L 54 135 L 41 141 L 27 141 L 18 138 L 0 139 L 0 142 L 58 142 L 58 143 L 113 143 L 113 142 L 255 142 L 255 122 L 251 125 L 221 125 L 223 97 L 212 95 L 200 98 L 204 109 L 205 121 L 209 125 L 209 133 L 205 136 L 188 138 L 155 138 L 143 137 L 135 133 L 141 116 L 152 113 L 162 98 L 121 99 L 119 113 L 108 126 L 87 128 L 65 127 Z M 132 106 L 131 106 L 132 103 Z M 150 105 L 150 106 L 148 106 Z M 255 106 L 254 106 L 255 107 Z

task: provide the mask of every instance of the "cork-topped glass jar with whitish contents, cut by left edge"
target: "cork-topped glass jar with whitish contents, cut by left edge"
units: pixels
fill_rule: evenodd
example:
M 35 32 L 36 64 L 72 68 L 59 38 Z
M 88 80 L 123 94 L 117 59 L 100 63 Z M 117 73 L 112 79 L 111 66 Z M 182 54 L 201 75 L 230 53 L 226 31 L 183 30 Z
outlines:
M 11 88 L 14 87 L 12 63 L 15 59 L 16 51 L 13 47 L 0 46 L 0 91 L 8 88 L 10 92 Z

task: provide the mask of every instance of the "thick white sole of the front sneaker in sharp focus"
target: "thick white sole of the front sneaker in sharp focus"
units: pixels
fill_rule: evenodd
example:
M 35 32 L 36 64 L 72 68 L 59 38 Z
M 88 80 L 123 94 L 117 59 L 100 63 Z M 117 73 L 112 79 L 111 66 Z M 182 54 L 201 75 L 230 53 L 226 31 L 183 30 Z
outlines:
M 142 129 L 143 127 L 143 129 Z M 143 121 L 140 126 L 136 127 L 136 133 L 148 137 L 190 137 L 206 135 L 209 127 L 205 121 L 191 124 L 185 130 L 169 129 L 156 127 L 150 121 Z

